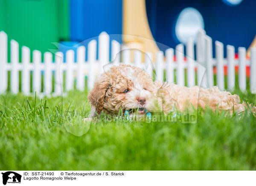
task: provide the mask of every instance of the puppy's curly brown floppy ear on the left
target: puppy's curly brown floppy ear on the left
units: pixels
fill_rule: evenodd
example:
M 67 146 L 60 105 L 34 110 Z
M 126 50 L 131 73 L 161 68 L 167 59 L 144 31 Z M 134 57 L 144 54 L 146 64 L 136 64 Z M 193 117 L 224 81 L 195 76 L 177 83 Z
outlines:
M 101 78 L 96 81 L 88 95 L 91 107 L 94 107 L 97 113 L 101 113 L 106 92 L 111 87 L 111 83 L 107 79 L 108 78 Z

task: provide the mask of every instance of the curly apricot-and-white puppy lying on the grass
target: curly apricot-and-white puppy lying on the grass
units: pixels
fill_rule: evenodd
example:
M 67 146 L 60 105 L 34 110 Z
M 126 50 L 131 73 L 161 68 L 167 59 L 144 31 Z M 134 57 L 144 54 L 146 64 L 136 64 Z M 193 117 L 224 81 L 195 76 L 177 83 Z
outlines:
M 121 64 L 99 76 L 88 95 L 91 105 L 90 117 L 102 112 L 114 115 L 119 110 L 138 109 L 169 113 L 206 107 L 239 113 L 247 108 L 240 103 L 238 95 L 220 91 L 218 87 L 182 87 L 177 84 L 153 82 L 151 76 L 138 67 Z M 143 101 L 142 101 L 143 100 Z M 256 112 L 256 107 L 250 105 Z M 142 112 L 143 113 L 143 112 Z

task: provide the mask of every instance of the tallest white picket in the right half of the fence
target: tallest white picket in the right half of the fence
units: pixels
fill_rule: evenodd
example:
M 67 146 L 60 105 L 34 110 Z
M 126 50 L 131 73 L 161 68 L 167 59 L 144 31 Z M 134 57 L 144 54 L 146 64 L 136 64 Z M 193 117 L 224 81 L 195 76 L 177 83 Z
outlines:
M 198 65 L 197 76 L 198 76 L 198 86 L 207 87 L 207 77 L 205 74 L 205 31 L 201 29 L 197 35 L 196 44 L 196 61 L 201 64 Z

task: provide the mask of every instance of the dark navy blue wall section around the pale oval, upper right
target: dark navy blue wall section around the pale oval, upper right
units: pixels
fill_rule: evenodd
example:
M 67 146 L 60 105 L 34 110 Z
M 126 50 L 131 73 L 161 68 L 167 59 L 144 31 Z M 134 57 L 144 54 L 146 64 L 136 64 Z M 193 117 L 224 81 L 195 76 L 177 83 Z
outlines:
M 238 5 L 225 1 L 146 0 L 148 22 L 154 39 L 172 48 L 179 44 L 175 34 L 177 17 L 186 7 L 193 7 L 204 18 L 204 29 L 213 42 L 218 40 L 224 46 L 233 45 L 236 50 L 239 46 L 248 48 L 256 35 L 256 1 L 242 0 Z

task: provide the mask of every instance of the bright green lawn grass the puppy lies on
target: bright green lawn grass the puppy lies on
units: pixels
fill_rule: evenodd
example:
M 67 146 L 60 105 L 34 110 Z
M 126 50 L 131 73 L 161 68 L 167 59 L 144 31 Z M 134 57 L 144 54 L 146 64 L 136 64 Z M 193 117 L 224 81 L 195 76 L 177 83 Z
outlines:
M 241 93 L 256 103 L 256 95 Z M 0 96 L 2 170 L 256 170 L 256 118 L 207 110 L 196 124 L 84 123 L 87 93 Z M 75 135 L 74 135 L 75 134 Z

